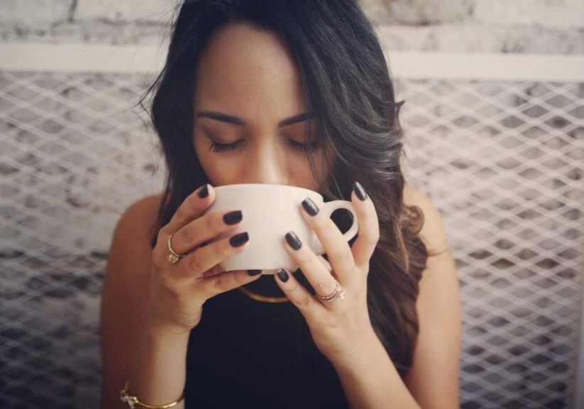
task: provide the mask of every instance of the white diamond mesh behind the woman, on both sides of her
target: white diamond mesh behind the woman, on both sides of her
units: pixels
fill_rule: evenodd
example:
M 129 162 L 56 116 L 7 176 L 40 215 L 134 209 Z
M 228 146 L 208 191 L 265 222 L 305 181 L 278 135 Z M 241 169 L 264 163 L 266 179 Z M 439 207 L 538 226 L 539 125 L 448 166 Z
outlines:
M 97 407 L 111 234 L 162 188 L 146 75 L 0 73 L 0 407 Z M 397 81 L 404 173 L 443 214 L 463 408 L 566 408 L 583 266 L 583 84 Z

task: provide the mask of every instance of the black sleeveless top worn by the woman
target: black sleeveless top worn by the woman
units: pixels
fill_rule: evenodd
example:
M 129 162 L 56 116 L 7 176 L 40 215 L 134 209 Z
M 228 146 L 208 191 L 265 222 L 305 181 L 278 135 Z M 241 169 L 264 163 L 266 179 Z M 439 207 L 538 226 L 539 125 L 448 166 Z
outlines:
M 307 288 L 302 276 L 296 277 Z M 284 296 L 271 275 L 246 285 Z M 186 408 L 349 408 L 341 381 L 292 302 L 260 302 L 240 290 L 207 300 L 187 349 Z

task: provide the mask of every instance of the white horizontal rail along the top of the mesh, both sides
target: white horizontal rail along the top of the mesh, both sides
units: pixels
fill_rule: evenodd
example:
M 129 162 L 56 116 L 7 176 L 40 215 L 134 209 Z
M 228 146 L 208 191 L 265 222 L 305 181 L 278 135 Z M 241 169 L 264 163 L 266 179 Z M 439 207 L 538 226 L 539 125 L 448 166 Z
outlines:
M 158 72 L 165 46 L 88 44 L 0 44 L 6 71 Z M 580 55 L 422 53 L 388 51 L 392 74 L 409 80 L 502 80 L 582 82 Z

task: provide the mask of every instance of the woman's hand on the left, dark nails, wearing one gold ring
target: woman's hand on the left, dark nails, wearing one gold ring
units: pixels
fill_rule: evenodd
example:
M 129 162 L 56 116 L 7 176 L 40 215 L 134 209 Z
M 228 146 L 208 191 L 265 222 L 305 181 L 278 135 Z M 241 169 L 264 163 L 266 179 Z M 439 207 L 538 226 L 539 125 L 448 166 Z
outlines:
M 188 333 L 199 324 L 206 300 L 261 276 L 249 276 L 247 270 L 224 272 L 219 266 L 224 259 L 245 250 L 248 243 L 247 232 L 228 234 L 211 242 L 216 236 L 233 231 L 241 224 L 241 220 L 227 224 L 229 216 L 224 219 L 226 214 L 231 214 L 232 220 L 237 219 L 234 213 L 237 209 L 203 214 L 214 200 L 211 185 L 199 187 L 181 203 L 170 222 L 158 231 L 152 251 L 151 327 L 173 334 Z M 175 234 L 172 249 L 179 254 L 188 253 L 174 264 L 167 260 L 170 254 L 167 242 L 172 233 Z

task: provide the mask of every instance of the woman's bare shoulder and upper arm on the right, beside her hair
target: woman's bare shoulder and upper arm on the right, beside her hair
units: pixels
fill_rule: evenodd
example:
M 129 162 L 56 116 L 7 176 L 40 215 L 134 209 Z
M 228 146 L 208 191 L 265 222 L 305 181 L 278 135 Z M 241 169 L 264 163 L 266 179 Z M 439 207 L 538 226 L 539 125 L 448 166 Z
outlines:
M 429 252 L 416 300 L 419 334 L 404 383 L 421 408 L 460 408 L 460 286 L 439 209 L 430 197 L 404 187 L 404 204 L 424 213 L 420 237 Z

